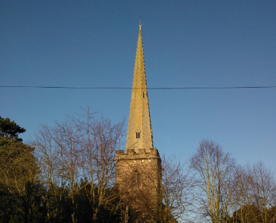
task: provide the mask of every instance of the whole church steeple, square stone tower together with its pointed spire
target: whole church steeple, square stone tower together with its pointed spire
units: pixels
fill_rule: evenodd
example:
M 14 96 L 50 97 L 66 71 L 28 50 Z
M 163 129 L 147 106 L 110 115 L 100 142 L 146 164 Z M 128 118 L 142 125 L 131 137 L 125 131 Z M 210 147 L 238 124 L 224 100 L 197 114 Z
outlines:
M 144 50 L 139 25 L 126 153 L 116 152 L 116 184 L 130 209 L 156 222 L 161 205 L 161 158 L 153 148 Z M 151 220 L 149 220 L 151 219 Z

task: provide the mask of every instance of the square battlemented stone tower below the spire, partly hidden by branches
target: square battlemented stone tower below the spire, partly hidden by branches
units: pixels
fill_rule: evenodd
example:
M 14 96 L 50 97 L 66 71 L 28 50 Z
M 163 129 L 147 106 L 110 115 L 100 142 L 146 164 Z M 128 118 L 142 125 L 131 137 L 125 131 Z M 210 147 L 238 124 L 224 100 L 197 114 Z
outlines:
M 161 208 L 161 159 L 156 148 L 116 153 L 116 182 L 132 209 L 158 218 Z

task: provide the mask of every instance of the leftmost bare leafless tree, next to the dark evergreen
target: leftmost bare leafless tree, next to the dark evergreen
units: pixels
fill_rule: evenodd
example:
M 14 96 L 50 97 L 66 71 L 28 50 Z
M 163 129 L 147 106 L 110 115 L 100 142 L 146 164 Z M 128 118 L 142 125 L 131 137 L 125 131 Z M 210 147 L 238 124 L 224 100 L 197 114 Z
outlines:
M 70 122 L 56 123 L 54 127 L 41 125 L 32 144 L 40 166 L 41 183 L 47 188 L 43 197 L 44 213 L 48 221 L 63 211 L 64 196 L 72 201 L 72 222 L 77 222 L 75 195 L 79 185 L 79 138 Z M 65 186 L 67 193 L 65 194 Z

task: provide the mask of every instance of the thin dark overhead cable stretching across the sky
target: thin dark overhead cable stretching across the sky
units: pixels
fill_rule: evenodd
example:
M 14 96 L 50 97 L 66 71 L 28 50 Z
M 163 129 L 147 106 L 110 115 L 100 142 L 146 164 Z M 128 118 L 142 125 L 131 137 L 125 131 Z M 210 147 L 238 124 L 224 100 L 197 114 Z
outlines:
M 5 86 L 0 88 L 63 88 L 63 89 L 132 89 L 122 87 L 63 87 L 63 86 Z M 239 89 L 239 88 L 276 88 L 276 86 L 233 86 L 233 87 L 175 87 L 175 88 L 147 88 L 148 90 L 187 90 L 187 89 Z

